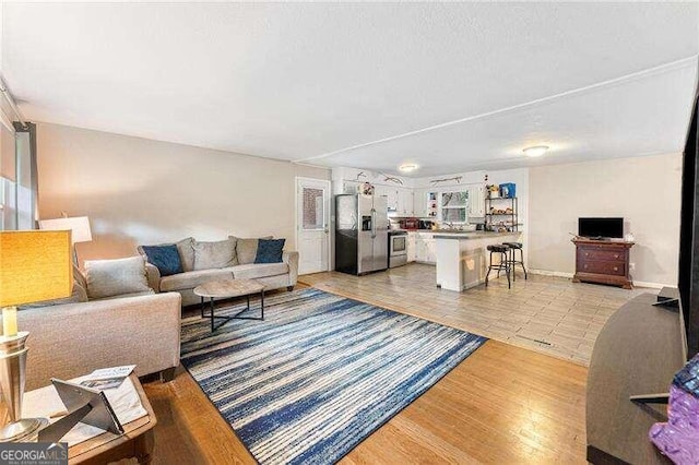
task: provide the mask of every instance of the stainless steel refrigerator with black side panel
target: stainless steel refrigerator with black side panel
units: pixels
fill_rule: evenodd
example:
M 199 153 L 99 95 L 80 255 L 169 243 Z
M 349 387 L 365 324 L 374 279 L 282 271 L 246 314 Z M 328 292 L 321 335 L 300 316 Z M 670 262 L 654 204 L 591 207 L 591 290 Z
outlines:
M 365 274 L 388 267 L 386 196 L 335 195 L 335 271 Z

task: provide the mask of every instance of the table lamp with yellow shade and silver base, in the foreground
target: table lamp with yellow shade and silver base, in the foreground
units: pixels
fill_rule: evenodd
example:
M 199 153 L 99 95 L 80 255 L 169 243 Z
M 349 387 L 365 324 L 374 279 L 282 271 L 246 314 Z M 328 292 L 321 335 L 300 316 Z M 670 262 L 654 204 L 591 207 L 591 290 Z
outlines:
M 48 425 L 45 418 L 22 418 L 29 335 L 17 332 L 15 306 L 68 297 L 72 291 L 71 233 L 0 231 L 0 406 L 10 424 L 0 425 L 0 442 L 19 441 Z

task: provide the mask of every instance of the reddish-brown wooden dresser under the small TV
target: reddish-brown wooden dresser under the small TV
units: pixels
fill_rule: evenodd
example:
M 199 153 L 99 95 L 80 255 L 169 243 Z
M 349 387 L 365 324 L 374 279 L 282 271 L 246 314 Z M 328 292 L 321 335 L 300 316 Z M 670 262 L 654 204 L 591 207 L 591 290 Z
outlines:
M 631 288 L 629 251 L 633 242 L 576 238 L 576 275 L 573 283 L 601 283 Z

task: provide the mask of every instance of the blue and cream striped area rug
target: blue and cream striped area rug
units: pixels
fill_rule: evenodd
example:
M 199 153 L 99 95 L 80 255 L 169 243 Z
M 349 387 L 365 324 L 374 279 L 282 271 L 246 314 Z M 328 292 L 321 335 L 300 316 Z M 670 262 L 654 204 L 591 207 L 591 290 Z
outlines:
M 264 303 L 264 321 L 181 331 L 182 363 L 262 464 L 336 462 L 486 341 L 312 288 Z

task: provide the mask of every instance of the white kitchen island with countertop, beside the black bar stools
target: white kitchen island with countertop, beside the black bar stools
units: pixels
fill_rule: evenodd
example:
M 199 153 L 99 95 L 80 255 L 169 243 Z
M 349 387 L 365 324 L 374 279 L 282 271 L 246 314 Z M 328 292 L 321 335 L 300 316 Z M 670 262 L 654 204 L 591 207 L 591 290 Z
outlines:
M 486 248 L 521 242 L 521 233 L 487 231 L 435 234 L 437 286 L 461 291 L 485 282 L 489 264 Z

